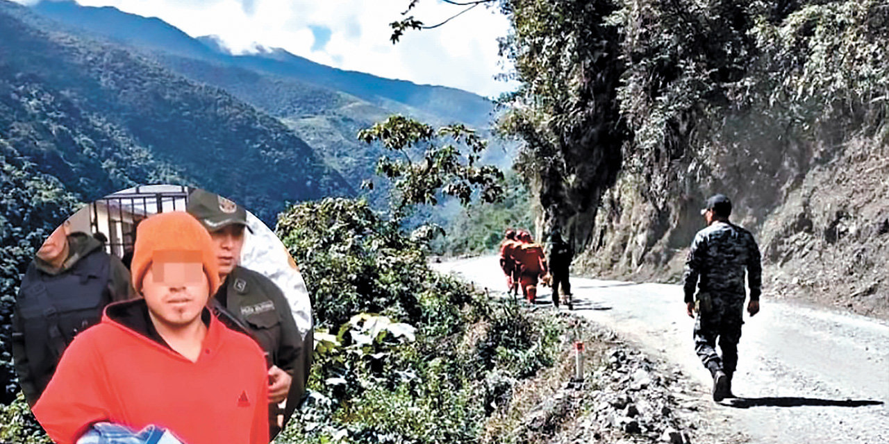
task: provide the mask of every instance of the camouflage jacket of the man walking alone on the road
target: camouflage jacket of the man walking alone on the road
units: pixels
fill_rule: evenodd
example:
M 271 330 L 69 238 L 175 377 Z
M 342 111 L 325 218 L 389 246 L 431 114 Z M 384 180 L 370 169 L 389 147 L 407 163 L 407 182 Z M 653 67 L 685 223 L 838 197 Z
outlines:
M 753 234 L 730 222 L 716 221 L 695 234 L 685 261 L 685 302 L 693 302 L 695 286 L 713 295 L 743 299 L 747 271 L 750 300 L 762 292 L 762 265 Z

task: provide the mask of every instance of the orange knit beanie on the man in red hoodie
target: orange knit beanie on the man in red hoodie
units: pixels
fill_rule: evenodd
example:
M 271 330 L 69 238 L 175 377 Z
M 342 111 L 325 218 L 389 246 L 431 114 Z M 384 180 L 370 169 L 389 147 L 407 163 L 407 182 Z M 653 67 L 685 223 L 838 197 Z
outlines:
M 200 253 L 204 274 L 210 281 L 210 294 L 220 286 L 219 265 L 212 237 L 204 226 L 185 211 L 169 211 L 149 216 L 136 228 L 136 245 L 132 251 L 132 286 L 142 289 L 142 279 L 157 252 L 195 251 Z

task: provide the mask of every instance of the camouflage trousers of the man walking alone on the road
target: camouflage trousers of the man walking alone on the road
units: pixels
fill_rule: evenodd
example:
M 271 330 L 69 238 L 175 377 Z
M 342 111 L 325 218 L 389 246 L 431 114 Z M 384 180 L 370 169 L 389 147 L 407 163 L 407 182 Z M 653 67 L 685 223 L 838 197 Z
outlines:
M 722 370 L 731 375 L 738 367 L 744 297 L 698 295 L 698 316 L 694 321 L 694 351 L 713 375 Z M 717 353 L 716 346 L 722 351 Z

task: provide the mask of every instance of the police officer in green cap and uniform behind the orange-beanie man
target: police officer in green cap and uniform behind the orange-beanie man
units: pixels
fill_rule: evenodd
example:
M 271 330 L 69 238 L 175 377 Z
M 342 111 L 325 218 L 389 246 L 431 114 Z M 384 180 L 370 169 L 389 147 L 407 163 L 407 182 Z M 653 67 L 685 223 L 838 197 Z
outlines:
M 247 212 L 228 199 L 195 189 L 188 195 L 188 213 L 210 232 L 219 262 L 219 291 L 212 304 L 220 321 L 234 329 L 246 330 L 267 354 L 270 435 L 280 431 L 276 418 L 284 415 L 286 424 L 308 382 L 309 353 L 304 352 L 300 331 L 281 289 L 262 274 L 239 266 L 244 247 Z M 277 405 L 287 400 L 284 412 Z

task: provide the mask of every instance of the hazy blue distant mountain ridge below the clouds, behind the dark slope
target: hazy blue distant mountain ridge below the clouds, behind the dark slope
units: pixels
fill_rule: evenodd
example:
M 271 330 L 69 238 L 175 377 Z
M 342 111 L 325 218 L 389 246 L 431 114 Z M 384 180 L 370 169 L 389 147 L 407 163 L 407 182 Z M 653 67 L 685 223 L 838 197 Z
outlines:
M 211 36 L 192 38 L 162 20 L 113 7 L 46 1 L 33 10 L 72 32 L 125 44 L 180 75 L 220 87 L 279 118 L 353 188 L 372 178 L 377 159 L 386 155 L 382 147 L 360 143 L 356 133 L 388 115 L 411 115 L 435 125 L 467 123 L 482 131 L 493 118 L 493 104 L 466 91 L 325 67 L 280 49 L 233 56 Z M 514 147 L 494 141 L 485 161 L 508 168 Z M 382 207 L 387 190 L 381 186 L 364 194 Z

